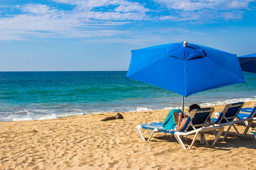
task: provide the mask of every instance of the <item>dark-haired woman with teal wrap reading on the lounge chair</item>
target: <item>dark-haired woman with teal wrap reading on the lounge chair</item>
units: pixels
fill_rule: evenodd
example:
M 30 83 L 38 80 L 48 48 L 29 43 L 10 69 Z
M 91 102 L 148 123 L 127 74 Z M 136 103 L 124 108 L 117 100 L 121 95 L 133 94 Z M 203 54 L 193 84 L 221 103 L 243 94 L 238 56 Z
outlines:
M 197 104 L 190 105 L 188 112 L 190 113 L 191 110 L 198 109 L 198 108 L 201 108 L 201 107 Z M 180 114 L 178 124 L 175 124 L 174 117 L 173 117 L 174 112 L 181 113 L 182 111 L 180 109 L 172 109 L 164 120 L 164 123 L 162 126 L 163 129 L 166 129 L 168 131 L 180 131 L 185 125 L 188 119 L 188 115 L 184 115 L 184 119 L 183 119 L 182 115 Z

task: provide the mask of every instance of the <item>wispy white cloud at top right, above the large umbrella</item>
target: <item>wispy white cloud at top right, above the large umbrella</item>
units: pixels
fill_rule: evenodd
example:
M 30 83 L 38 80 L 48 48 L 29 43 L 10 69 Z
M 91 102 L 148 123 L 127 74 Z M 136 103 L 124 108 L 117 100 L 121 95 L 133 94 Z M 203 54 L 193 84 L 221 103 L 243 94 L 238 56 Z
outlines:
M 172 21 L 220 22 L 243 18 L 243 10 L 249 10 L 250 0 L 154 0 L 166 6 L 170 16 L 159 19 Z M 255 1 L 255 0 L 254 0 Z M 172 17 L 171 17 L 172 16 Z

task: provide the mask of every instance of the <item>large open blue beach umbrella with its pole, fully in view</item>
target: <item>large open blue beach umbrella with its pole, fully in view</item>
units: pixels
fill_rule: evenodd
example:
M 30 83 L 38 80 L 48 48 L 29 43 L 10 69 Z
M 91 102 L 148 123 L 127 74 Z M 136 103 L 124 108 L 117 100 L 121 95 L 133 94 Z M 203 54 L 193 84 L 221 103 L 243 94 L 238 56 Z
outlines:
M 187 41 L 132 50 L 126 78 L 184 96 L 246 83 L 235 54 Z

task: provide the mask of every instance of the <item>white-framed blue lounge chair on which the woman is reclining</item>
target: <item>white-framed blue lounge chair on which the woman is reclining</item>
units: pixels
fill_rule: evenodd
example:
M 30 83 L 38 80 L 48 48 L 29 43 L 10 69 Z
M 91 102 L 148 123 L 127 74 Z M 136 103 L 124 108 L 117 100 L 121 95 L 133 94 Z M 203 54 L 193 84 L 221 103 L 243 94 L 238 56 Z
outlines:
M 167 133 L 170 133 L 172 135 L 174 135 L 176 137 L 176 139 L 178 140 L 180 146 L 182 149 L 187 149 L 184 145 L 184 143 L 182 142 L 180 136 L 187 136 L 187 135 L 192 135 L 195 134 L 194 139 L 190 145 L 190 147 L 188 149 L 191 149 L 197 135 L 200 134 L 201 137 L 201 143 L 203 144 L 204 142 L 206 144 L 208 144 L 208 142 L 206 141 L 205 137 L 204 137 L 204 132 L 209 132 L 209 131 L 214 131 L 214 130 L 219 130 L 218 134 L 216 135 L 212 145 L 215 145 L 216 142 L 219 140 L 220 135 L 222 134 L 223 131 L 223 127 L 222 126 L 212 126 L 212 127 L 207 127 L 207 120 L 209 120 L 209 118 L 212 115 L 214 108 L 201 108 L 201 109 L 193 109 L 191 111 L 191 113 L 188 115 L 188 119 L 184 125 L 184 127 L 180 130 L 180 131 L 169 131 L 166 129 L 162 129 L 162 122 L 153 122 L 153 123 L 145 123 L 145 124 L 140 124 L 138 126 L 136 126 L 136 129 L 140 135 L 140 138 L 142 140 L 145 140 L 143 134 L 141 133 L 140 129 L 149 129 L 149 130 L 153 130 L 150 137 L 148 138 L 148 141 L 151 139 L 151 137 L 153 136 L 154 133 L 157 132 L 164 132 L 164 134 L 166 135 Z M 172 136 L 171 135 L 171 136 Z M 209 144 L 208 144 L 209 145 Z

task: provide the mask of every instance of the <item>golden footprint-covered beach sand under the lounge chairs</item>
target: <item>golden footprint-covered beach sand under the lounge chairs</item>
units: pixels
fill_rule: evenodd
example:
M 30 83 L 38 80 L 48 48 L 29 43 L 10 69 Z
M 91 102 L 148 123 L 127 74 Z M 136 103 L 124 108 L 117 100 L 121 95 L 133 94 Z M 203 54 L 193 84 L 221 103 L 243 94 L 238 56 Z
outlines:
M 247 102 L 244 107 L 254 104 Z M 223 107 L 214 106 L 214 112 Z M 251 130 L 240 137 L 232 127 L 225 141 L 215 146 L 196 142 L 191 150 L 181 149 L 175 137 L 164 133 L 156 133 L 151 141 L 141 140 L 135 127 L 163 122 L 169 111 L 124 112 L 124 119 L 106 122 L 100 120 L 116 113 L 0 122 L 0 169 L 256 168 L 256 140 Z M 237 127 L 240 132 L 245 129 L 244 123 Z M 150 131 L 143 133 L 149 136 Z M 206 139 L 211 144 L 214 138 L 207 133 Z

